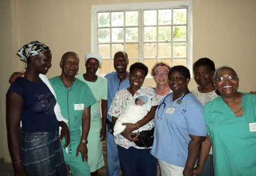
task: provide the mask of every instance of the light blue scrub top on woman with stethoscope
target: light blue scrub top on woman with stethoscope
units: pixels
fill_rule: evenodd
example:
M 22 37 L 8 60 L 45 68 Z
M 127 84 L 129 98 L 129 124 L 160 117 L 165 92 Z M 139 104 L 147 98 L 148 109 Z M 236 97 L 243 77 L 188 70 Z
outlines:
M 173 94 L 170 93 L 155 112 L 155 138 L 150 153 L 157 159 L 185 167 L 191 141 L 189 134 L 206 136 L 204 111 L 200 101 L 191 93 L 183 97 L 181 104 L 172 100 Z

